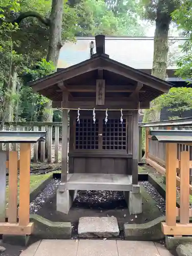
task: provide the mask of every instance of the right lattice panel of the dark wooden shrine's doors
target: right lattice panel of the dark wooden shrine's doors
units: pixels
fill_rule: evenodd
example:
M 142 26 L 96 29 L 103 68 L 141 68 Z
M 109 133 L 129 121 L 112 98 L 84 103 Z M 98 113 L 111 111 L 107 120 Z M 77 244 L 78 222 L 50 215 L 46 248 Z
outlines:
M 126 120 L 121 124 L 119 119 L 103 119 L 103 150 L 126 150 Z

